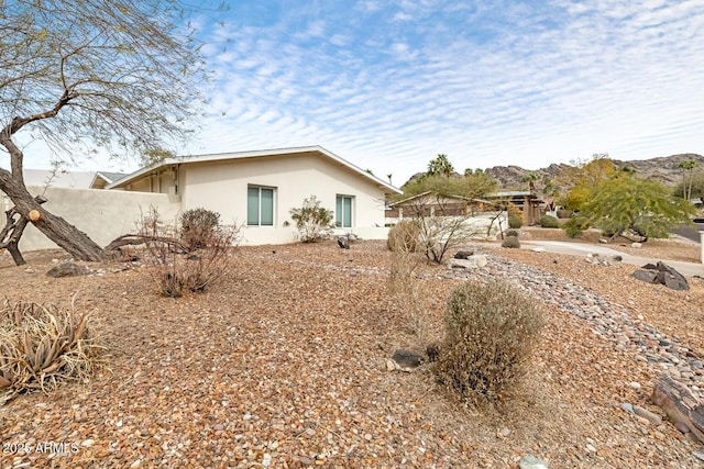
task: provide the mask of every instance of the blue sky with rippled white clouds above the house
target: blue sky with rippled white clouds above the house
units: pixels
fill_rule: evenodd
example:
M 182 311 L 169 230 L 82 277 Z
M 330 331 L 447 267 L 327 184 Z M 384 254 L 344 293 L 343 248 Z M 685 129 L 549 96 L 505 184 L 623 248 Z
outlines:
M 702 0 L 228 3 L 199 21 L 216 81 L 180 154 L 321 145 L 400 186 L 439 153 L 704 153 Z

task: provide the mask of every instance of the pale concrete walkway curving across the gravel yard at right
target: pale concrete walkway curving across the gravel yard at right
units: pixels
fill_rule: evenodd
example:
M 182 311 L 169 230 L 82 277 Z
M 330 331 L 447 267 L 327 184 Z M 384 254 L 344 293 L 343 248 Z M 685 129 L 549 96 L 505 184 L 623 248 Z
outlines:
M 703 264 L 694 264 L 694 263 L 682 263 L 679 260 L 668 260 L 668 259 L 654 259 L 648 257 L 639 257 L 631 256 L 629 254 L 625 254 L 618 252 L 616 249 L 612 249 L 610 247 L 604 247 L 594 244 L 582 244 L 582 243 L 566 243 L 562 241 L 522 241 L 520 242 L 520 247 L 522 249 L 534 249 L 536 247 L 541 247 L 548 253 L 556 254 L 568 254 L 573 256 L 586 256 L 587 254 L 598 254 L 603 257 L 614 257 L 620 256 L 623 258 L 623 263 L 631 264 L 634 266 L 645 266 L 646 264 L 657 264 L 658 260 L 662 260 L 668 266 L 674 268 L 676 271 L 682 273 L 685 277 L 704 277 L 704 265 Z

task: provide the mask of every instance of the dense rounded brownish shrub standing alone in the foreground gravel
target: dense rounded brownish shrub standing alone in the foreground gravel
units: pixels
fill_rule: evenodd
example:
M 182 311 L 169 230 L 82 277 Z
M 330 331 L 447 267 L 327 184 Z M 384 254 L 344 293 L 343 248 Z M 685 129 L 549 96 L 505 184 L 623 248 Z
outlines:
M 542 324 L 541 311 L 515 287 L 463 283 L 448 299 L 435 371 L 461 400 L 499 409 L 518 389 Z

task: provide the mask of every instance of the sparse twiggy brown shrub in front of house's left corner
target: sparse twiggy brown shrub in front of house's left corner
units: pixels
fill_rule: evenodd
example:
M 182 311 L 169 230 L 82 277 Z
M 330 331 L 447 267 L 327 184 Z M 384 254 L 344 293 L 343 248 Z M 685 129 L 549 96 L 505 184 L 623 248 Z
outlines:
M 157 290 L 165 297 L 179 298 L 188 292 L 205 291 L 226 276 L 232 267 L 232 247 L 239 242 L 238 226 L 216 226 L 207 245 L 185 245 L 178 230 L 160 220 L 156 210 L 141 222 L 144 239 L 142 260 Z

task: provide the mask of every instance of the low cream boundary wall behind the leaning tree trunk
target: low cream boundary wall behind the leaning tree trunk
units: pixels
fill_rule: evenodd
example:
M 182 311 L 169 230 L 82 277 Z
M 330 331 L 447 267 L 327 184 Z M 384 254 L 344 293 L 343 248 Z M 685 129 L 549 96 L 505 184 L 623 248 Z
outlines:
M 40 194 L 43 187 L 28 187 L 30 193 Z M 141 213 L 148 213 L 150 206 L 158 210 L 162 220 L 176 220 L 180 210 L 177 197 L 164 193 L 106 191 L 95 189 L 48 188 L 44 194 L 48 202 L 43 206 L 55 215 L 88 234 L 100 246 L 106 246 L 116 237 L 134 233 L 135 222 Z M 2 216 L 12 201 L 0 192 Z M 21 250 L 51 249 L 57 246 L 32 224 L 28 225 L 20 241 Z

